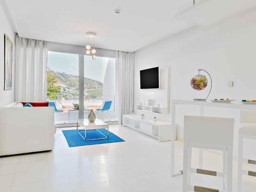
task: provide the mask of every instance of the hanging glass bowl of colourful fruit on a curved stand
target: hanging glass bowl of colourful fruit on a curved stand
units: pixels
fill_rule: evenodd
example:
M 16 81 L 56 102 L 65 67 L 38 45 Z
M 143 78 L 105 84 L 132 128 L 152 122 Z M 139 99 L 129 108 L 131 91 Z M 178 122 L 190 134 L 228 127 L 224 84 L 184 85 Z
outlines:
M 200 74 L 201 71 L 204 71 L 204 72 L 206 72 L 209 75 L 209 77 L 210 77 L 210 91 L 211 91 L 211 87 L 212 87 L 211 76 L 210 76 L 210 74 L 207 71 L 205 71 L 203 69 L 199 69 L 198 70 L 198 74 L 195 77 L 191 78 L 190 86 L 194 90 L 197 90 L 197 91 L 202 91 L 202 90 L 204 90 L 207 87 L 207 85 L 208 85 L 207 77 L 206 77 L 206 75 Z M 209 91 L 206 99 L 210 95 L 210 91 Z M 194 99 L 194 100 L 195 101 L 206 101 L 206 99 Z

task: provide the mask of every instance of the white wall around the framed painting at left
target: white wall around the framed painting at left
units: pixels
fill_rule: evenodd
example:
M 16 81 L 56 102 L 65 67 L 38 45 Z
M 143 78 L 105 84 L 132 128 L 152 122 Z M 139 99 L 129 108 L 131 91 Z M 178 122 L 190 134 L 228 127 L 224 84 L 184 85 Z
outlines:
M 6 10 L 0 3 L 0 106 L 6 105 L 14 101 L 14 68 L 15 68 L 15 49 L 14 49 L 14 31 L 9 23 L 9 18 L 6 15 Z M 7 34 L 13 43 L 12 55 L 12 89 L 4 91 L 4 34 Z

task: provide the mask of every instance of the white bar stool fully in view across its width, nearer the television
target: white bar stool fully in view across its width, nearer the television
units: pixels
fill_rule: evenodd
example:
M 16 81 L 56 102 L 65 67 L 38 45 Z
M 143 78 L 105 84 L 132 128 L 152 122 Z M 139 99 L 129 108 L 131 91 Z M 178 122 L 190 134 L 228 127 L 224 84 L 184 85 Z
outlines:
M 219 117 L 184 116 L 183 192 L 231 192 L 234 119 Z M 191 148 L 207 148 L 223 152 L 223 173 L 191 168 Z M 194 186 L 190 174 L 223 177 L 223 190 Z

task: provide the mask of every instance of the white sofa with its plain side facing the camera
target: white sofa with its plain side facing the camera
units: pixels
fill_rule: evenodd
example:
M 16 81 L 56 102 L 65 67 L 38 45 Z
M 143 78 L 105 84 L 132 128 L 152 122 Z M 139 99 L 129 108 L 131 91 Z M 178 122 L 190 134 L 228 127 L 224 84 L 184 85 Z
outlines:
M 53 107 L 16 104 L 0 108 L 0 156 L 53 150 Z

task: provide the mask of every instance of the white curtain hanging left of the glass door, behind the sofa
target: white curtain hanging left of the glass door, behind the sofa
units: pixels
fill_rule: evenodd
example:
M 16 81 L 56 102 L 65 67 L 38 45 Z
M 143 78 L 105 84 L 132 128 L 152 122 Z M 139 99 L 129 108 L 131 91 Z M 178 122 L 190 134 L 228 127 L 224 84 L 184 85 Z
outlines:
M 15 100 L 47 100 L 47 41 L 15 35 Z

